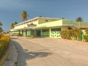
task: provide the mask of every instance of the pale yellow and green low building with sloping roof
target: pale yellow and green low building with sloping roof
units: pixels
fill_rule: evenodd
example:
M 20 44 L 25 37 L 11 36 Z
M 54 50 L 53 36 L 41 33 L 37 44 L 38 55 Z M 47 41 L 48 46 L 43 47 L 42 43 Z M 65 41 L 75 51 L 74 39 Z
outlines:
M 88 28 L 88 22 L 73 22 L 72 20 L 62 18 L 36 17 L 21 22 L 13 29 L 11 33 L 19 33 L 21 36 L 51 37 L 61 38 L 60 32 L 65 29 Z

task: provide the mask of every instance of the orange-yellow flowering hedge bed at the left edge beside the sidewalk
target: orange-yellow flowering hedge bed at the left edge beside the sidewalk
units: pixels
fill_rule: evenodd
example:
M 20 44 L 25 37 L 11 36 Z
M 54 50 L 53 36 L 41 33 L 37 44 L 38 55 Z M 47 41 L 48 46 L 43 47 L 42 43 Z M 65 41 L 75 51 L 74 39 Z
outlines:
M 10 37 L 6 35 L 0 35 L 0 58 L 3 53 L 8 49 L 10 43 Z

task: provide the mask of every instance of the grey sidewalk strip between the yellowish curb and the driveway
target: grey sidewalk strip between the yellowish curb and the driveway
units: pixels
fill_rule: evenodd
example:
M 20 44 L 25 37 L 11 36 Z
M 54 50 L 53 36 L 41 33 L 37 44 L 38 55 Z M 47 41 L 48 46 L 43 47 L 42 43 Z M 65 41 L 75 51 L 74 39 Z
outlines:
M 17 49 L 15 48 L 14 44 L 10 43 L 10 54 L 6 61 L 4 62 L 3 66 L 16 66 L 17 65 L 17 56 L 18 52 Z

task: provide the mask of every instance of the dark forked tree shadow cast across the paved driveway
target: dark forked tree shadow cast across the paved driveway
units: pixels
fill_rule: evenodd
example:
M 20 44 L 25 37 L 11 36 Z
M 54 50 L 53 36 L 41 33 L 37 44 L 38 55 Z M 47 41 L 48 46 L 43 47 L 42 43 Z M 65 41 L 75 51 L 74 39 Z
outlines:
M 47 57 L 52 54 L 49 52 L 38 52 L 38 51 L 29 52 L 27 49 L 23 49 L 22 46 L 19 43 L 17 43 L 16 41 L 12 40 L 12 42 L 18 50 L 18 64 L 17 64 L 17 66 L 26 66 L 27 60 L 35 59 L 37 57 L 43 58 L 43 57 Z

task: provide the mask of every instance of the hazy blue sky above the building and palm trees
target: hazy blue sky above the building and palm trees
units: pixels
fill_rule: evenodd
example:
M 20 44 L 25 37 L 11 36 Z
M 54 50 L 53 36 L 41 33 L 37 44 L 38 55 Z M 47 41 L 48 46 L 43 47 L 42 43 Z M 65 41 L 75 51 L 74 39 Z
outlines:
M 0 0 L 0 21 L 4 31 L 9 31 L 10 24 L 15 21 L 22 22 L 23 10 L 29 14 L 28 19 L 44 16 L 75 21 L 82 17 L 88 22 L 88 0 Z

